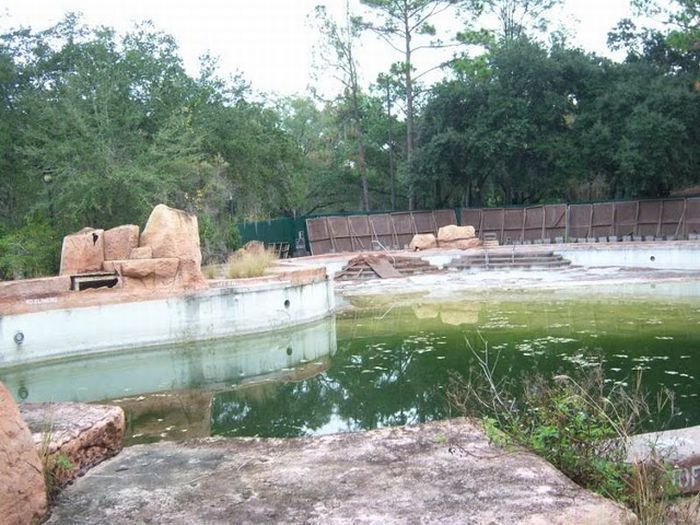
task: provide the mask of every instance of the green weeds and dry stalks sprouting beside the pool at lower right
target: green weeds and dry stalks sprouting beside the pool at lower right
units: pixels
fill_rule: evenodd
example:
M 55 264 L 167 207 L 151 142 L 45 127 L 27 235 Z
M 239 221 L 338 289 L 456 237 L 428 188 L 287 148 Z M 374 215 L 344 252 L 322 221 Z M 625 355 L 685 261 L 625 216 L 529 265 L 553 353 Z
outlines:
M 670 420 L 670 392 L 650 402 L 641 375 L 632 388 L 609 386 L 600 365 L 514 382 L 510 371 L 500 373 L 486 341 L 479 350 L 467 345 L 478 367 L 466 378 L 452 375 L 447 396 L 455 411 L 479 418 L 492 443 L 532 450 L 579 485 L 626 504 L 642 523 L 667 522 L 678 495 L 671 468 L 657 456 L 630 464 L 627 448 L 642 422 Z

